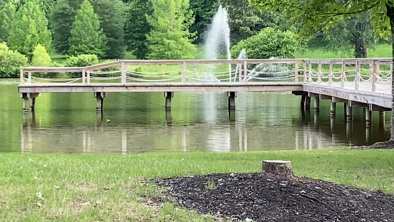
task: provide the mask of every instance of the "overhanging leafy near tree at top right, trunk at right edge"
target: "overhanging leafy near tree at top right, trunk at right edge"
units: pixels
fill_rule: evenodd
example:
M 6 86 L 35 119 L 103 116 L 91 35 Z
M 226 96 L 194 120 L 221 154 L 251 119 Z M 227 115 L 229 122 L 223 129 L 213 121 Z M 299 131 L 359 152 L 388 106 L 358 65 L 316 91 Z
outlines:
M 291 16 L 292 21 L 302 24 L 301 33 L 312 36 L 320 30 L 327 30 L 341 19 L 360 17 L 360 13 L 371 11 L 371 23 L 380 38 L 394 40 L 394 0 L 251 0 L 262 10 L 275 11 L 280 8 Z M 392 41 L 394 62 L 394 41 Z M 392 70 L 392 113 L 391 138 L 394 143 L 394 69 Z

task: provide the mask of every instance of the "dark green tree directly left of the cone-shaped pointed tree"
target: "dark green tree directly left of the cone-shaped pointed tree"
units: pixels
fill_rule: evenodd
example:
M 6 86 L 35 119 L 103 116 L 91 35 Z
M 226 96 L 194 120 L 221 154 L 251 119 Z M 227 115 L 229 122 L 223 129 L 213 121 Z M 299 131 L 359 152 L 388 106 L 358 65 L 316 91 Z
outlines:
M 76 8 L 80 0 L 58 0 L 51 13 L 51 30 L 53 46 L 57 53 L 67 54 L 69 51 L 69 38 L 72 22 L 75 19 Z

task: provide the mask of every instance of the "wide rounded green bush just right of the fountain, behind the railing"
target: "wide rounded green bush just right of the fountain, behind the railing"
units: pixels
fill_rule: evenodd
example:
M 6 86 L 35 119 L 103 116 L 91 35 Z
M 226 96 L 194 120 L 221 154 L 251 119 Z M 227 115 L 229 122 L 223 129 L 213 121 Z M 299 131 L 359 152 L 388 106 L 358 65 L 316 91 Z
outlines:
M 294 58 L 296 53 L 301 50 L 301 44 L 294 32 L 282 32 L 268 27 L 234 45 L 231 48 L 231 54 L 236 56 L 242 49 L 245 49 L 246 55 L 250 59 Z

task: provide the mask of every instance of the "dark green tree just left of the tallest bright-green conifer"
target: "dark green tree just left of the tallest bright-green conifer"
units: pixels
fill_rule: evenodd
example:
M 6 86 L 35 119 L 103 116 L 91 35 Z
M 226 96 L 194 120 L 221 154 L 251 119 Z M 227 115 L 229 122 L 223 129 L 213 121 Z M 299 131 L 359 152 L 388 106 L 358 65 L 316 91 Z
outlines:
M 147 35 L 151 25 L 146 15 L 152 15 L 150 0 L 133 0 L 127 6 L 125 22 L 125 43 L 128 51 L 132 51 L 138 59 L 145 59 L 148 53 Z

